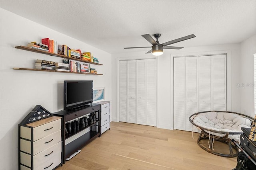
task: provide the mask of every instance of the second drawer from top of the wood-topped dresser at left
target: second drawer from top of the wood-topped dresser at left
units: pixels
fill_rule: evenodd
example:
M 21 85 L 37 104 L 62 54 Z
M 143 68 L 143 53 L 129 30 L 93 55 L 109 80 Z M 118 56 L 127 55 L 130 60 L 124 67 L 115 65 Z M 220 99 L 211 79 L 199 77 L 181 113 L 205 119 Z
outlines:
M 33 155 L 38 154 L 42 150 L 48 149 L 61 141 L 61 130 L 39 139 L 33 143 Z M 20 139 L 20 150 L 31 154 L 31 141 Z

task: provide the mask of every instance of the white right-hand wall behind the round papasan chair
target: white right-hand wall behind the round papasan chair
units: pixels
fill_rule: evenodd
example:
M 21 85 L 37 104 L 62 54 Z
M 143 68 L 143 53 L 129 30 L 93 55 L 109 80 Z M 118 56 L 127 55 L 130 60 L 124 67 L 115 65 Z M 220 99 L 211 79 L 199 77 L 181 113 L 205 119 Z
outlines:
M 254 117 L 253 55 L 256 53 L 256 35 L 241 43 L 241 79 L 237 88 L 241 93 L 241 112 Z

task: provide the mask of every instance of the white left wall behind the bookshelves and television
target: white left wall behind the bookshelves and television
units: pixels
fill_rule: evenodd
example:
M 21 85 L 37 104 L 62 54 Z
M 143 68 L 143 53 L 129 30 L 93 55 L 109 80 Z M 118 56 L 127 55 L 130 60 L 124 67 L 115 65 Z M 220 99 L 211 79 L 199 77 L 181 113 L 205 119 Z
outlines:
M 93 80 L 94 87 L 105 87 L 105 100 L 112 102 L 111 54 L 62 33 L 39 25 L 0 8 L 0 169 L 18 169 L 18 124 L 36 106 L 50 112 L 63 109 L 63 80 Z M 13 70 L 33 68 L 36 59 L 62 62 L 62 58 L 33 53 L 15 46 L 42 38 L 74 49 L 91 51 L 103 66 L 100 75 Z

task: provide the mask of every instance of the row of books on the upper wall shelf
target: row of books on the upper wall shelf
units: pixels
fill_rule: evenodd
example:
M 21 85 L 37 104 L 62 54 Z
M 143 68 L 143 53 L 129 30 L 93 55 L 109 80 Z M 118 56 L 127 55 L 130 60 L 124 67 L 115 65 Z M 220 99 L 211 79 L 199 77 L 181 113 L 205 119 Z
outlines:
M 56 41 L 49 39 L 49 38 L 41 39 L 41 43 L 35 42 L 35 41 L 28 43 L 27 47 L 30 47 L 33 49 L 39 49 L 39 50 L 43 50 L 43 51 L 48 51 L 50 53 L 64 55 L 67 57 L 81 59 L 84 61 L 99 63 L 98 59 L 96 57 L 93 57 L 90 52 L 82 53 L 80 49 L 71 49 L 67 45 L 57 45 Z

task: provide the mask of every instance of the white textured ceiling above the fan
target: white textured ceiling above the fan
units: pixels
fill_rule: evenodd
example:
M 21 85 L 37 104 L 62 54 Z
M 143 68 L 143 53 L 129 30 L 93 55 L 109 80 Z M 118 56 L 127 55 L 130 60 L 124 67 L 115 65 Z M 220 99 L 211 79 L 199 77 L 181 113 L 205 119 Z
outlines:
M 240 43 L 256 34 L 256 0 L 0 0 L 0 7 L 109 53 L 148 51 L 141 35 L 172 46 Z M 70 20 L 72 24 L 64 23 Z

